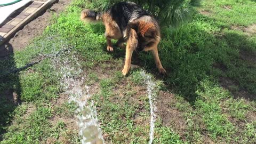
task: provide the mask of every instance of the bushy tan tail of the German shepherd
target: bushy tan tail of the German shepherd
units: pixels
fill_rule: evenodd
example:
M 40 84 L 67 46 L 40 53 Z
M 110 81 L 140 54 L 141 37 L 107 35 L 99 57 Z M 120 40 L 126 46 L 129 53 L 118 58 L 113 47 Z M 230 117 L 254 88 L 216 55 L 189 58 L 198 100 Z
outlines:
M 84 22 L 99 22 L 102 20 L 102 13 L 98 13 L 89 9 L 85 9 L 81 12 L 80 19 Z

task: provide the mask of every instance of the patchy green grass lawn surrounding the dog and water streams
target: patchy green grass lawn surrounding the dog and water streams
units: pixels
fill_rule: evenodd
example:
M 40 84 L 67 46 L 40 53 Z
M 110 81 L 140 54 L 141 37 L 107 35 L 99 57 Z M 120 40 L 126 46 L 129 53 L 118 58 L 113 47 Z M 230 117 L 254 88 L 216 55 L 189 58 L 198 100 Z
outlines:
M 91 7 L 86 0 L 74 0 L 26 49 L 0 60 L 0 76 L 41 60 L 0 79 L 1 143 L 81 143 L 61 66 L 79 67 L 69 75 L 84 77 L 82 86 L 90 87 L 105 143 L 148 143 L 150 105 L 141 71 L 155 84 L 153 143 L 256 143 L 255 1 L 202 0 L 193 21 L 162 27 L 166 77 L 149 52 L 134 53 L 134 68 L 122 76 L 125 51 L 106 51 L 104 26 L 79 20 L 85 7 Z

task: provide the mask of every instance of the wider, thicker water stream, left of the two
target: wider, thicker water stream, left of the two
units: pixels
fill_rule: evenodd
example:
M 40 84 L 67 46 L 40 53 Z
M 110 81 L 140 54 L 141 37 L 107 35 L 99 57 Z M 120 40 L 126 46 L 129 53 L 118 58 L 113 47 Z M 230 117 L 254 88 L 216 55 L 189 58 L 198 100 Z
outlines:
M 67 52 L 69 53 L 69 51 Z M 94 106 L 89 86 L 84 85 L 83 70 L 78 58 L 73 54 L 71 58 L 58 57 L 53 60 L 58 69 L 63 91 L 69 96 L 69 102 L 75 102 L 78 106 L 77 124 L 83 144 L 103 144 L 102 131 L 98 123 L 97 110 Z

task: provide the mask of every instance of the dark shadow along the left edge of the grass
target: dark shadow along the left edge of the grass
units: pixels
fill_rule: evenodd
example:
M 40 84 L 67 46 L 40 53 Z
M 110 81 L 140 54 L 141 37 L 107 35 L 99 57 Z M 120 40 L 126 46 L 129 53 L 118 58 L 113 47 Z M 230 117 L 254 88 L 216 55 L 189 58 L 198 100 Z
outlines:
M 16 68 L 13 59 L 13 47 L 9 43 L 0 46 L 0 141 L 5 126 L 11 122 L 11 113 L 21 103 L 19 73 L 4 74 Z

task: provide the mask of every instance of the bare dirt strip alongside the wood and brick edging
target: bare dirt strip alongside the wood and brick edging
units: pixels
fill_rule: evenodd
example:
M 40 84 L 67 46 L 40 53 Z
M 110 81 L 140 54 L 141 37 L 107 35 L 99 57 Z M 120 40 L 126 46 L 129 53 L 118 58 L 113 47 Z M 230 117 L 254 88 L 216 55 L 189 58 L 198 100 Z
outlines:
M 25 48 L 36 36 L 43 33 L 46 26 L 50 25 L 51 13 L 59 14 L 70 2 L 69 0 L 59 0 L 42 15 L 21 28 L 9 41 L 0 46 L 0 58 Z

